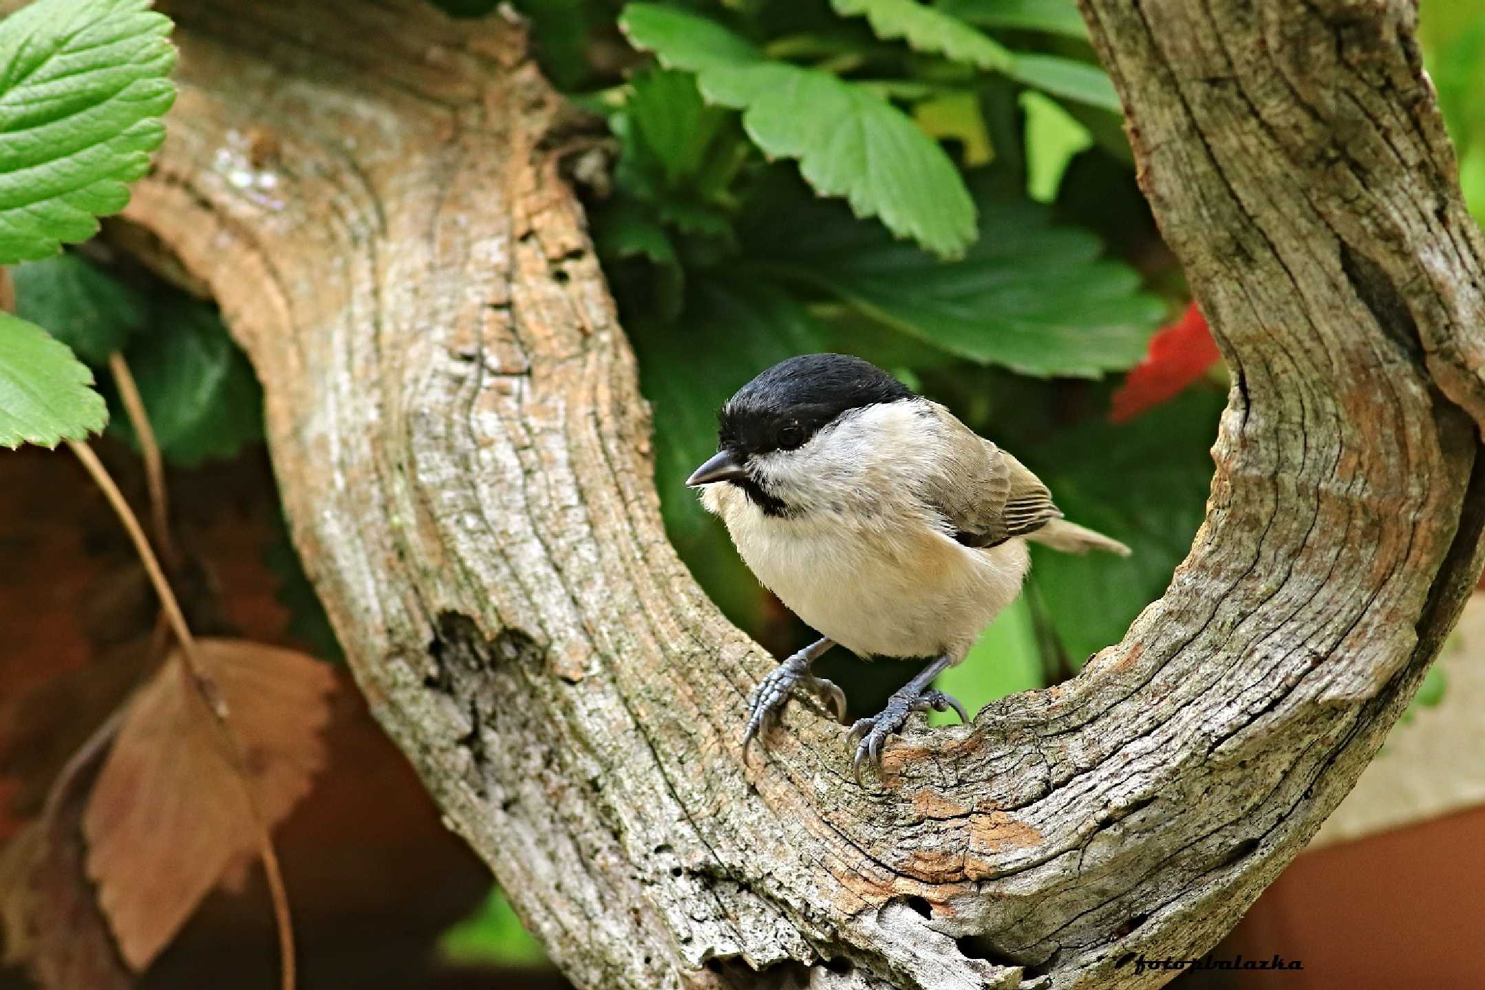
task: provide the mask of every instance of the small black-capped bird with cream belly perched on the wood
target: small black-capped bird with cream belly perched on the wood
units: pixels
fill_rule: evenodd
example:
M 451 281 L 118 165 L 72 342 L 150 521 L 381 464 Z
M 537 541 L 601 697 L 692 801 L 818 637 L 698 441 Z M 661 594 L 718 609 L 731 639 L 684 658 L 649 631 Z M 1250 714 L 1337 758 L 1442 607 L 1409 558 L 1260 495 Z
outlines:
M 881 775 L 887 739 L 916 711 L 968 712 L 933 687 L 1022 591 L 1028 540 L 1129 548 L 1062 518 L 1010 453 L 876 365 L 811 353 L 760 373 L 723 404 L 717 453 L 686 479 L 753 574 L 820 640 L 751 692 L 742 754 L 796 687 L 845 721 L 845 692 L 812 663 L 833 646 L 930 663 L 851 727 L 851 767 Z

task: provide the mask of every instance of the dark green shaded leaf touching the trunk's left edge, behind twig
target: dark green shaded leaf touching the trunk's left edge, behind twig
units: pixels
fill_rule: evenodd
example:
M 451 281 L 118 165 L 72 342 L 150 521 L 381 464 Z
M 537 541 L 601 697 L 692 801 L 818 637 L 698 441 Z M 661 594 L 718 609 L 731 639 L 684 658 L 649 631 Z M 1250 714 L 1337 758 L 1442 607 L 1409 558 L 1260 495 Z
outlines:
M 184 295 L 151 316 L 125 352 L 160 453 L 178 465 L 232 457 L 263 438 L 263 390 L 217 312 Z M 114 429 L 131 442 L 126 417 Z

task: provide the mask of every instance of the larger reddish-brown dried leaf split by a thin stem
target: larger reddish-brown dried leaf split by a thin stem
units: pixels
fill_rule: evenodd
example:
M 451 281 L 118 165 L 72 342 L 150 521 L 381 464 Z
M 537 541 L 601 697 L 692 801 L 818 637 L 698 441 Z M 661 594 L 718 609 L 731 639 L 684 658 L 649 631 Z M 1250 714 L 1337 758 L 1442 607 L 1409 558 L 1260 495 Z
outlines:
M 269 828 L 324 766 L 334 674 L 304 653 L 199 640 Z M 129 707 L 83 816 L 88 874 L 125 960 L 144 969 L 257 828 L 221 733 L 177 655 Z

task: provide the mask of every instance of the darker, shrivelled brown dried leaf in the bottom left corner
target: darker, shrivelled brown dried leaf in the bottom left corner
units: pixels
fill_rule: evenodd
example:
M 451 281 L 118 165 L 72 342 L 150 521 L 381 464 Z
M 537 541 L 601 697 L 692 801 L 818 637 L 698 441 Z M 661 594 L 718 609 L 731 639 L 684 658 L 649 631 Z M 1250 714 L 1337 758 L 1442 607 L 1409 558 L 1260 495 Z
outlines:
M 128 990 L 107 919 L 83 873 L 82 816 L 119 720 L 110 720 L 58 775 L 42 818 L 0 853 L 4 962 L 24 963 L 46 990 Z

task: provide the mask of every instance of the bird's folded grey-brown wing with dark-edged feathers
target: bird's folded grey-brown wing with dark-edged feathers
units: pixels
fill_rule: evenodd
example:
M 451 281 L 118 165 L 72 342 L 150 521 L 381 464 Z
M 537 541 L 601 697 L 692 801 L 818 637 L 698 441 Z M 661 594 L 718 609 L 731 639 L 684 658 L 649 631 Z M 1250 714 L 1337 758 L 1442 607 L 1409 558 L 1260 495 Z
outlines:
M 946 410 L 947 456 L 927 485 L 925 499 L 965 546 L 996 546 L 1035 533 L 1062 512 L 1041 479 Z

